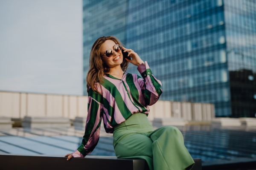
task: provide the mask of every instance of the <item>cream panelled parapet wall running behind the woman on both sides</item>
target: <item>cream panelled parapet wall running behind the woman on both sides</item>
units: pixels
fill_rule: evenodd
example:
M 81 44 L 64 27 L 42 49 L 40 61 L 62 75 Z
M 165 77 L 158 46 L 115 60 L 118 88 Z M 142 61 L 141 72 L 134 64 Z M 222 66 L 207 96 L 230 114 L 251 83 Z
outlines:
M 76 117 L 87 116 L 88 96 L 35 94 L 0 91 L 0 116 L 23 119 L 24 116 Z M 158 100 L 149 106 L 148 119 L 175 118 L 184 121 L 211 121 L 214 104 Z M 76 120 L 77 122 L 78 120 Z

